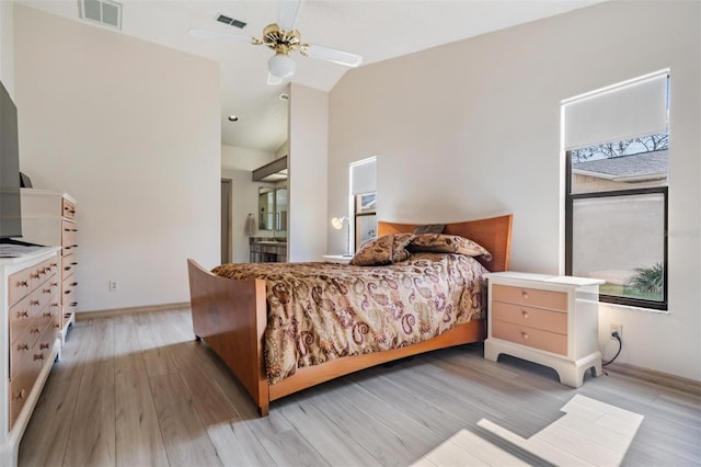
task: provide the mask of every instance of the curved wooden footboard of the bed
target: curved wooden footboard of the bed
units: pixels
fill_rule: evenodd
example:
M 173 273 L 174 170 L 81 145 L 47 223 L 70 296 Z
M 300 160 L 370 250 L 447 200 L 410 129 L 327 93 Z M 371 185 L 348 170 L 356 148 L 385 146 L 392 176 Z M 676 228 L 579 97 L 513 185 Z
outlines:
M 267 415 L 269 392 L 263 368 L 265 281 L 218 277 L 193 260 L 187 260 L 187 272 L 195 337 L 225 361 L 261 415 Z

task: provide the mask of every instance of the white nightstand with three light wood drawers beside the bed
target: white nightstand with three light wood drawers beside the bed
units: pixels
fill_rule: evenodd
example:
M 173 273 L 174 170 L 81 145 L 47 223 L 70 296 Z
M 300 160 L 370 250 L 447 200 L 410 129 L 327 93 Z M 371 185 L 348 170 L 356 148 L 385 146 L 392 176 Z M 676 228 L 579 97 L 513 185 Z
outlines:
M 563 385 L 601 374 L 597 278 L 503 272 L 489 282 L 484 357 L 508 354 L 550 366 Z

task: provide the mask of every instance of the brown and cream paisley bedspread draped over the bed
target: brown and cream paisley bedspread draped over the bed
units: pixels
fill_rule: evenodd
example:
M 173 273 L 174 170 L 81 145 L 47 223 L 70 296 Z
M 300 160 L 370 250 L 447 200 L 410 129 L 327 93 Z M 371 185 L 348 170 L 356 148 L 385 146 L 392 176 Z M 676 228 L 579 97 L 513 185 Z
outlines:
M 298 367 L 410 345 L 483 318 L 485 272 L 470 257 L 423 252 L 384 266 L 242 263 L 212 270 L 265 280 L 271 384 Z

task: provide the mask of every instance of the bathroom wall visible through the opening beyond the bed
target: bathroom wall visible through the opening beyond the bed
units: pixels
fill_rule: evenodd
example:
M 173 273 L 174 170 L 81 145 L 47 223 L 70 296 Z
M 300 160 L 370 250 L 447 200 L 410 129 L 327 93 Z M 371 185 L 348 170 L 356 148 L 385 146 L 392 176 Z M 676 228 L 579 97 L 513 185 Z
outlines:
M 249 213 L 257 214 L 258 187 L 271 185 L 271 183 L 253 182 L 251 180 L 252 171 L 272 162 L 275 158 L 274 153 L 255 149 L 221 147 L 221 176 L 231 179 L 232 184 L 231 230 L 233 236 L 232 261 L 234 263 L 248 263 L 251 259 L 249 237 L 245 235 L 245 219 Z M 258 230 L 255 236 L 268 237 L 271 234 L 271 231 Z

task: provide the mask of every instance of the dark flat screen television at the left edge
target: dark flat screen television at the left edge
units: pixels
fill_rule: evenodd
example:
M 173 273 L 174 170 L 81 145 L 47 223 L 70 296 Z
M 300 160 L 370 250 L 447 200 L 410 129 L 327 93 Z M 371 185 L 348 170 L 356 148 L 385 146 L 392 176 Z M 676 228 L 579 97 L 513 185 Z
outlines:
M 18 109 L 0 82 L 0 242 L 22 237 L 20 203 Z

